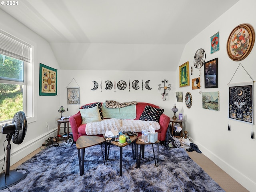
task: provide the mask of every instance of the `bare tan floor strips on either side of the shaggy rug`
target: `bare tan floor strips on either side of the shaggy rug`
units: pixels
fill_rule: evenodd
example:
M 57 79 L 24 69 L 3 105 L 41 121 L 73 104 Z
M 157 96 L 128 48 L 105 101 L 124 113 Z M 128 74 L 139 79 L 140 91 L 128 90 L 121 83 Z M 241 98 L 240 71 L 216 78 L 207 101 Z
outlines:
M 42 147 L 44 148 L 44 147 Z M 20 164 L 30 159 L 32 156 L 40 152 L 42 149 L 38 148 L 16 164 L 10 167 L 10 170 L 17 168 Z M 226 172 L 219 168 L 204 154 L 199 154 L 195 151 L 187 152 L 194 162 L 196 162 L 215 182 L 217 182 L 226 192 L 248 192 L 246 188 L 240 185 L 236 180 L 230 177 Z

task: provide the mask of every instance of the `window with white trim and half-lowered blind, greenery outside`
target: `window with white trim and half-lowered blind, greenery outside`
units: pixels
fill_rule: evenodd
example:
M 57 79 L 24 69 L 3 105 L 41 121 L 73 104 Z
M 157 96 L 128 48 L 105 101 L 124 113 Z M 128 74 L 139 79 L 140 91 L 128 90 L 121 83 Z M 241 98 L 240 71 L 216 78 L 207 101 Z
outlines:
M 0 126 L 10 123 L 18 111 L 27 119 L 33 117 L 31 55 L 31 45 L 0 30 Z

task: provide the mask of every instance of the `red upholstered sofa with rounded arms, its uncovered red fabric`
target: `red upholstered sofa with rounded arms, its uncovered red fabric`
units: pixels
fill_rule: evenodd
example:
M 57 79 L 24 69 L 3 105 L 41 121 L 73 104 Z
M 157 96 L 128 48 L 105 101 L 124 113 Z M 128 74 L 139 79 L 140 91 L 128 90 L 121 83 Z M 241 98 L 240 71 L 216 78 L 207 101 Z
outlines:
M 142 114 L 146 105 L 149 105 L 149 106 L 152 106 L 155 108 L 159 108 L 159 106 L 156 106 L 154 104 L 138 102 L 138 104 L 136 104 L 136 119 L 135 120 L 140 119 L 140 115 Z M 74 142 L 76 142 L 76 140 L 80 136 L 86 135 L 86 133 L 85 133 L 86 124 L 82 124 L 82 117 L 81 117 L 81 114 L 79 111 L 78 111 L 78 113 L 70 116 L 69 122 L 71 125 Z M 160 124 L 160 129 L 156 130 L 156 132 L 158 132 L 158 140 L 160 140 L 160 141 L 165 140 L 166 131 L 169 126 L 169 122 L 170 122 L 170 117 L 166 116 L 165 114 L 161 114 L 159 122 L 158 122 Z M 138 132 L 138 134 L 140 135 L 141 132 Z M 96 135 L 96 136 L 103 136 L 103 135 Z

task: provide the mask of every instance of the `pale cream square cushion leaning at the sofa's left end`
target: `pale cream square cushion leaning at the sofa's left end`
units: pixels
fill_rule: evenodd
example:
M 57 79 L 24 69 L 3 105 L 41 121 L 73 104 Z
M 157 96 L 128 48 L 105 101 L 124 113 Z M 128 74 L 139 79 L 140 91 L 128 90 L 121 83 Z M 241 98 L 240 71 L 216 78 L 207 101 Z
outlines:
M 91 108 L 79 109 L 81 117 L 82 117 L 82 124 L 86 124 L 89 122 L 98 122 L 101 121 L 100 112 L 98 106 L 94 106 Z

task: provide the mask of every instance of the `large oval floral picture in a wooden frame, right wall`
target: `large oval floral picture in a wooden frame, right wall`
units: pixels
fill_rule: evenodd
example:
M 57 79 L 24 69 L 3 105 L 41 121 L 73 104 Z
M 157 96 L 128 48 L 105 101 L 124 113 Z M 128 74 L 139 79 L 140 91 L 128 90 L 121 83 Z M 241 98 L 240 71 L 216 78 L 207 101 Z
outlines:
M 230 59 L 240 61 L 251 52 L 255 41 L 254 29 L 249 24 L 236 26 L 228 37 L 227 53 Z

